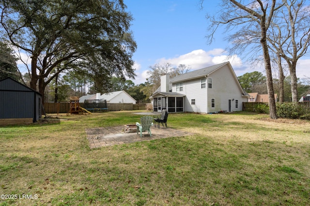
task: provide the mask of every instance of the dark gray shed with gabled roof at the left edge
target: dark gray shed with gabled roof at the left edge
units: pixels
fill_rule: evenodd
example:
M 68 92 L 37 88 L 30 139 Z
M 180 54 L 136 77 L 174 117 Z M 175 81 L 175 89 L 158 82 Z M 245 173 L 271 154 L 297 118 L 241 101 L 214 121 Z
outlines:
M 41 118 L 42 96 L 8 77 L 0 80 L 0 125 L 32 123 Z

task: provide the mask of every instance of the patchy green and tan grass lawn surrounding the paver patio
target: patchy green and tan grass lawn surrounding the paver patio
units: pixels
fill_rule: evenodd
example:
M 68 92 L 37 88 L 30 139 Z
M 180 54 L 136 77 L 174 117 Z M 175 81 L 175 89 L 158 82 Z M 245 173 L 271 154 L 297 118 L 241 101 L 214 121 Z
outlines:
M 90 149 L 86 128 L 140 115 L 59 117 L 0 127 L 0 206 L 309 205 L 309 121 L 170 114 L 195 135 Z

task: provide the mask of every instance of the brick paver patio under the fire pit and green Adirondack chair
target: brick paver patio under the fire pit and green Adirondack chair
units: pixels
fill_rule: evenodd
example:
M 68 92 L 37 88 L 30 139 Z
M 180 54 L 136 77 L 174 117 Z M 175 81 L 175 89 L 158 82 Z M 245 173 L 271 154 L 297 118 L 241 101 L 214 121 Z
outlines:
M 142 132 L 142 137 L 140 137 L 140 134 L 137 134 L 137 132 L 125 133 L 123 125 L 116 127 L 98 127 L 86 129 L 87 139 L 91 149 L 112 145 L 122 145 L 133 142 L 150 141 L 168 137 L 193 135 L 193 133 L 190 132 L 166 127 L 161 127 L 160 129 L 157 127 L 152 127 L 151 132 L 152 136 L 150 136 L 150 134 L 147 132 Z

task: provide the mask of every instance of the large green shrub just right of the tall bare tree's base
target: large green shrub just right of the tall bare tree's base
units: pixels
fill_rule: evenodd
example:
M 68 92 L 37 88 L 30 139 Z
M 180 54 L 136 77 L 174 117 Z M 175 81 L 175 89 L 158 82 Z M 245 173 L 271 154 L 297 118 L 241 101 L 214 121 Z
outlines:
M 304 115 L 304 113 L 298 103 L 277 103 L 277 115 L 279 118 L 296 119 Z

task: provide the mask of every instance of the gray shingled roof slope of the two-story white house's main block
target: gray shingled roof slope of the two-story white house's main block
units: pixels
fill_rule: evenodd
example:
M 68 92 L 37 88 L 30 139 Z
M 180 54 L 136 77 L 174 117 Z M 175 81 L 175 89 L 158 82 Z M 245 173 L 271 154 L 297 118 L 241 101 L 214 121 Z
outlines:
M 217 64 L 217 65 L 205 67 L 205 68 L 202 68 L 202 69 L 199 69 L 199 70 L 195 70 L 195 71 L 192 71 L 192 72 L 188 72 L 188 73 L 185 73 L 185 74 L 177 75 L 176 77 L 171 78 L 170 83 L 184 81 L 184 80 L 189 80 L 189 79 L 194 79 L 194 78 L 198 78 L 198 77 L 202 77 L 202 76 L 211 74 L 212 72 L 214 72 L 217 69 L 221 68 L 225 64 L 230 64 L 230 63 L 229 63 L 229 61 L 227 61 L 227 62 L 224 62 L 224 63 L 221 63 L 221 64 Z

